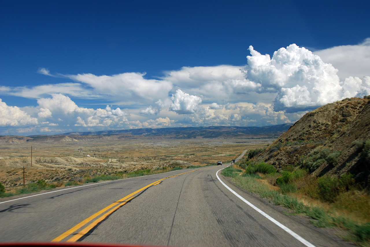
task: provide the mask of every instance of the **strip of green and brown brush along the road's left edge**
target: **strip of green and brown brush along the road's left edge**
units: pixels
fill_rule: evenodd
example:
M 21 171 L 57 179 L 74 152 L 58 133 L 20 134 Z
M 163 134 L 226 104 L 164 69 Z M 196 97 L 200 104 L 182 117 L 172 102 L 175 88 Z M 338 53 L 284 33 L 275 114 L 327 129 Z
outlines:
M 47 189 L 54 189 L 56 187 L 63 187 L 63 186 L 70 186 L 70 185 L 80 185 L 80 184 L 87 184 L 90 182 L 99 182 L 99 181 L 108 181 L 108 180 L 118 180 L 123 178 L 131 178 L 131 177 L 140 177 L 145 175 L 152 175 L 152 174 L 159 174 L 159 173 L 165 173 L 168 171 L 176 171 L 176 170 L 182 170 L 182 169 L 189 169 L 189 168 L 200 168 L 200 167 L 206 167 L 209 166 L 209 164 L 201 165 L 201 166 L 187 166 L 187 167 L 160 167 L 156 168 L 154 170 L 151 169 L 144 169 L 144 170 L 137 170 L 132 171 L 129 173 L 124 173 L 122 171 L 119 171 L 117 173 L 112 173 L 108 169 L 80 169 L 78 172 L 80 175 L 75 176 L 69 181 L 65 182 L 61 178 L 56 177 L 54 182 L 46 182 L 43 179 L 40 179 L 36 182 L 31 182 L 26 184 L 24 187 L 21 187 L 17 189 L 15 192 L 6 192 L 5 187 L 0 182 L 0 197 L 9 197 L 13 195 L 20 195 L 20 194 L 26 194 L 26 193 L 33 193 L 38 192 L 42 190 Z

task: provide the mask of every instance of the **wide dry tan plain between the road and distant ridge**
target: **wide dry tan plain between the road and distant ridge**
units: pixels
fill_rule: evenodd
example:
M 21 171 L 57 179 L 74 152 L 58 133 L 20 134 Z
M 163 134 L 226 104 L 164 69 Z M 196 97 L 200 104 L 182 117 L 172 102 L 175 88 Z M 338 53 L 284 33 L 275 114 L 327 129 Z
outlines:
M 64 186 L 96 175 L 113 175 L 162 167 L 204 166 L 235 159 L 245 149 L 274 139 L 86 140 L 0 144 L 0 182 L 6 192 L 40 179 Z

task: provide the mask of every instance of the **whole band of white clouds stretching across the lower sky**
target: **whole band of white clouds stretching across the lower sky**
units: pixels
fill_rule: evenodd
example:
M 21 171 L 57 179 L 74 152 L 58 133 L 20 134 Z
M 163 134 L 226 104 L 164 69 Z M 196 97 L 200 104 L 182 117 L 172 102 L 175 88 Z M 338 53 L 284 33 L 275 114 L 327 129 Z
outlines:
M 40 68 L 38 73 L 53 80 L 73 82 L 0 86 L 2 95 L 37 100 L 37 105 L 29 107 L 9 106 L 0 100 L 3 114 L 0 134 L 7 134 L 5 126 L 13 133 L 40 134 L 292 123 L 321 105 L 370 95 L 370 63 L 359 65 L 354 74 L 343 79 L 338 76 L 340 70 L 327 62 L 330 56 L 336 58 L 333 61 L 337 64 L 366 62 L 370 58 L 369 47 L 370 39 L 367 39 L 359 45 L 313 53 L 292 44 L 270 57 L 249 46 L 247 65 L 182 67 L 165 71 L 159 79 L 147 79 L 145 73 L 131 72 L 112 76 L 52 74 Z M 356 57 L 360 62 L 355 61 Z M 78 106 L 91 99 L 109 101 L 116 107 Z

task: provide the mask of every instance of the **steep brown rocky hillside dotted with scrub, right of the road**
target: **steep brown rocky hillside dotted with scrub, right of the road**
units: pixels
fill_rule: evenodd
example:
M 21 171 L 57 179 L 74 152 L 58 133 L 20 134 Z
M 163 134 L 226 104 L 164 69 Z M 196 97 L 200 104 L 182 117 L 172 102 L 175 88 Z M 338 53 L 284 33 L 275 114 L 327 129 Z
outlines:
M 276 168 L 305 167 L 314 176 L 351 173 L 369 186 L 369 98 L 346 98 L 308 112 L 253 159 Z

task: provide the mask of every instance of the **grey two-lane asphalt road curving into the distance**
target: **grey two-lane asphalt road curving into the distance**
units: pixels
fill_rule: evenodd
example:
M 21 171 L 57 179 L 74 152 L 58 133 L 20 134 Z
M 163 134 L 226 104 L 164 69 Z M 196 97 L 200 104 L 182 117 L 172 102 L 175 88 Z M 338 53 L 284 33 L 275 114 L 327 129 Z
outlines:
M 218 172 L 228 187 L 298 237 L 292 236 L 218 180 L 216 172 L 225 167 L 95 183 L 1 202 L 0 242 L 77 240 L 159 246 L 353 246 L 335 236 L 333 229 L 314 227 L 303 216 L 289 215 L 285 209 L 241 191 Z M 152 183 L 154 185 L 145 188 Z M 131 199 L 128 195 L 135 191 L 138 192 Z M 101 210 L 104 212 L 97 213 Z M 107 213 L 110 210 L 114 212 Z M 93 219 L 83 222 L 90 216 Z M 91 225 L 95 220 L 96 225 Z M 75 227 L 79 223 L 81 227 Z M 86 227 L 86 233 L 79 233 Z M 308 244 L 299 241 L 299 237 Z

